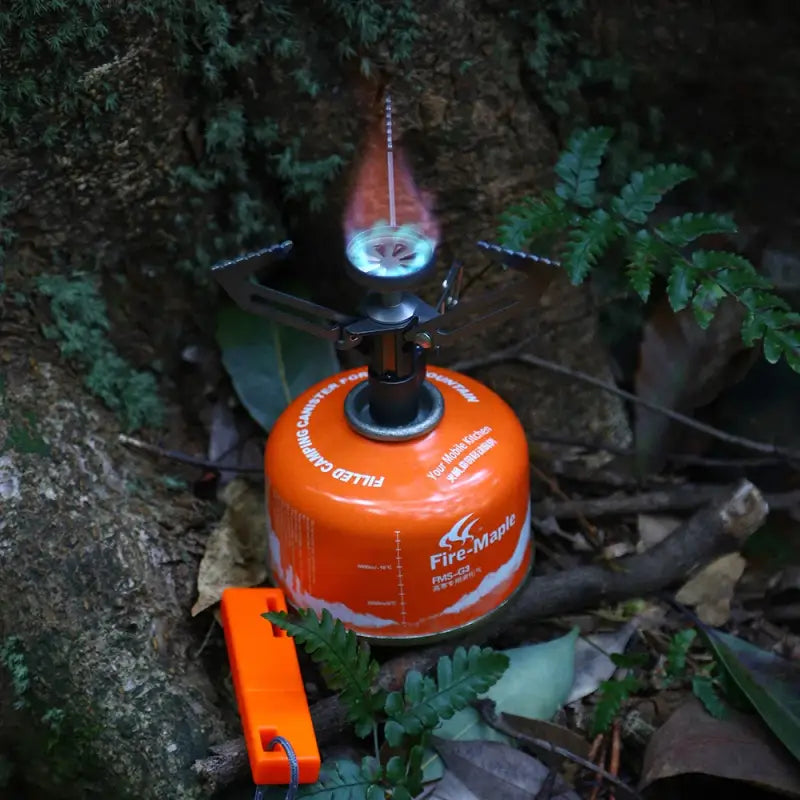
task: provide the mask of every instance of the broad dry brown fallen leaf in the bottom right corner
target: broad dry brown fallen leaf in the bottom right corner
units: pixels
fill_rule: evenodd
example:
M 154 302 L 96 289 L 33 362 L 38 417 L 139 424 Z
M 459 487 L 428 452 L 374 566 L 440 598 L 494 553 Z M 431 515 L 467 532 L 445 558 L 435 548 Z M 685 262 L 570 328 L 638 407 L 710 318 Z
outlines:
M 694 698 L 650 738 L 639 789 L 688 773 L 800 796 L 800 766 L 757 717 L 731 710 L 724 720 L 715 719 Z

